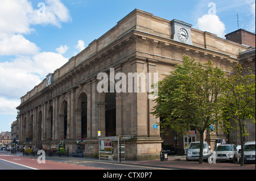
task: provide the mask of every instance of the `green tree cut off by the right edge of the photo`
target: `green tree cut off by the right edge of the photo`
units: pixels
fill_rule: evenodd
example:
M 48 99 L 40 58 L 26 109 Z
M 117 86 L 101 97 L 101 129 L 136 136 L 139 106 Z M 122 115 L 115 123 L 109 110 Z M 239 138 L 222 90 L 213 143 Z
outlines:
M 243 137 L 248 135 L 246 128 L 247 121 L 255 124 L 255 74 L 236 64 L 234 73 L 225 79 L 225 93 L 222 101 L 225 108 L 222 113 L 224 131 L 231 132 L 233 129 L 240 129 L 241 141 L 241 166 L 243 166 Z M 236 124 L 232 124 L 232 120 Z M 237 125 L 237 126 L 236 126 Z

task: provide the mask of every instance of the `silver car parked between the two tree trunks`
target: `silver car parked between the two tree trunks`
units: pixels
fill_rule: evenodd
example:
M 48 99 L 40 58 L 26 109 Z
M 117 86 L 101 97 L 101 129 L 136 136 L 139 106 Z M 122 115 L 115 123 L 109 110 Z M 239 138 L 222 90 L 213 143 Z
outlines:
M 232 161 L 233 163 L 238 159 L 238 150 L 236 145 L 218 145 L 216 148 L 216 161 Z

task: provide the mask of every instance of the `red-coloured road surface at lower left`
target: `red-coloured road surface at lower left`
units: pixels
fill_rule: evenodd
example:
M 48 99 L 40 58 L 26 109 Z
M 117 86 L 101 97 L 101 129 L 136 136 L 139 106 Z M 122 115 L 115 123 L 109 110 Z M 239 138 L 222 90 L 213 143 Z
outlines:
M 30 157 L 18 157 L 13 155 L 6 155 L 0 153 L 0 159 L 5 161 L 18 163 L 19 165 L 24 165 L 28 167 L 32 167 L 32 169 L 39 170 L 103 170 L 96 167 L 88 167 L 88 166 L 80 166 L 73 165 L 71 163 L 61 163 L 61 162 L 53 162 L 47 161 L 46 163 L 38 163 L 38 159 L 30 158 Z

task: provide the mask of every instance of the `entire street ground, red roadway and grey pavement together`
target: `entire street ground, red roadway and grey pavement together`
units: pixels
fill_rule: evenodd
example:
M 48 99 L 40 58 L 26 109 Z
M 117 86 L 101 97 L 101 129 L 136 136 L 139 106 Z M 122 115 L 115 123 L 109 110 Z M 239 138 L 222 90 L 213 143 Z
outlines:
M 168 157 L 168 161 L 125 161 L 105 162 L 98 159 L 77 158 L 77 157 L 46 157 L 46 163 L 38 163 L 38 157 L 16 155 L 10 152 L 0 151 L 0 169 L 38 169 L 38 170 L 126 170 L 126 171 L 170 171 L 170 170 L 255 170 L 255 164 L 247 164 L 243 167 L 238 163 L 220 162 L 209 164 L 204 162 L 187 162 L 184 156 Z

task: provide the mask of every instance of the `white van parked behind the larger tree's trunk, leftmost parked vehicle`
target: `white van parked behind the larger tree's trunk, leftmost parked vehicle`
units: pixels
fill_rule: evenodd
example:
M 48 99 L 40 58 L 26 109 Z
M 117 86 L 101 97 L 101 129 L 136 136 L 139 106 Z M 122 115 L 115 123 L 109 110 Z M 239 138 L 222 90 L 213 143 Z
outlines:
M 208 146 L 208 143 L 206 141 L 203 142 L 203 160 L 207 161 L 209 158 L 209 149 L 210 146 Z M 200 142 L 191 142 L 188 145 L 188 150 L 187 150 L 187 161 L 192 161 L 192 160 L 199 160 L 199 154 L 200 154 Z

